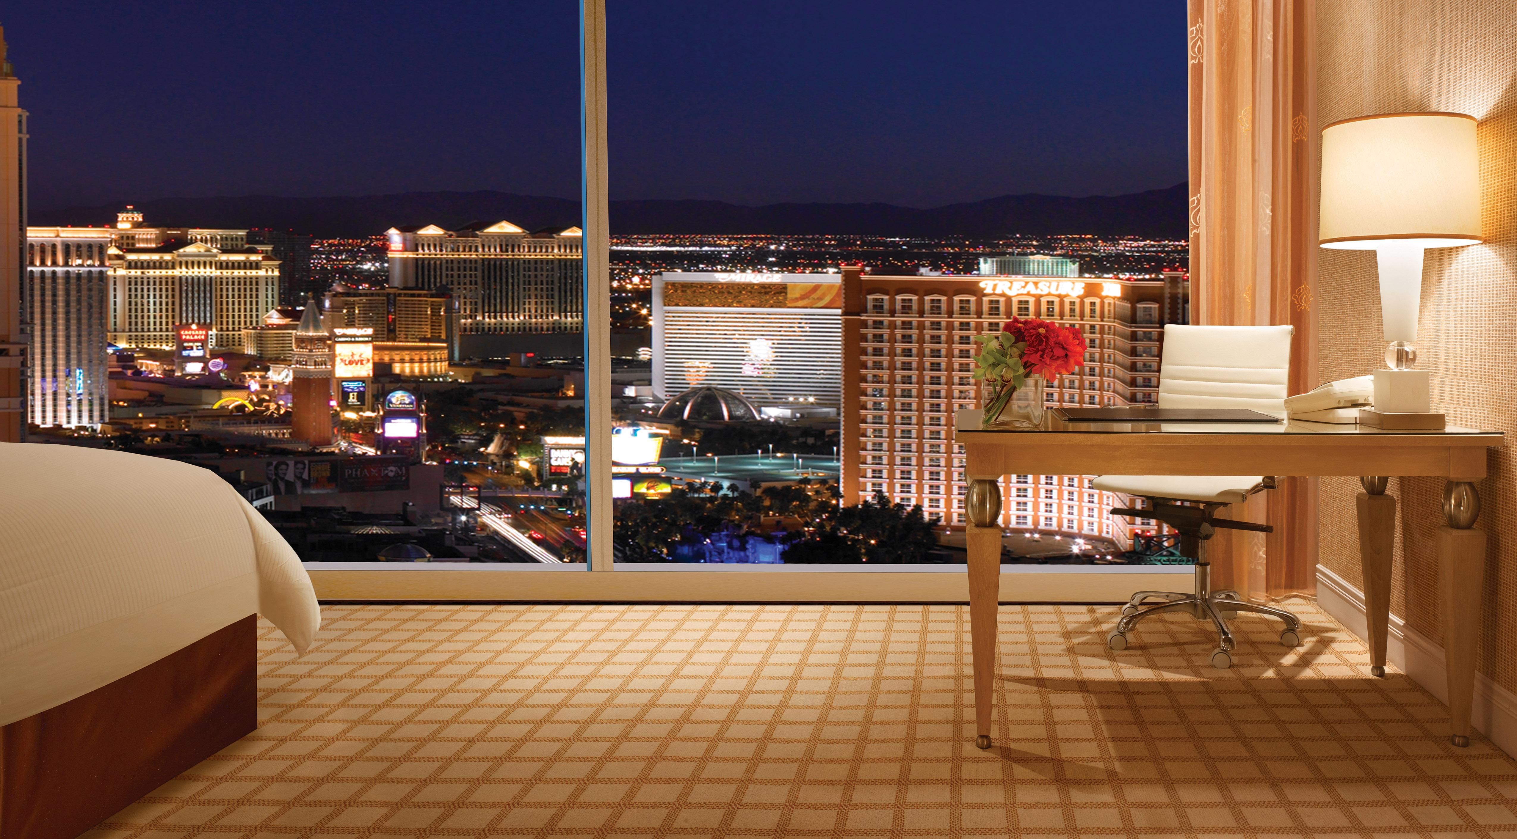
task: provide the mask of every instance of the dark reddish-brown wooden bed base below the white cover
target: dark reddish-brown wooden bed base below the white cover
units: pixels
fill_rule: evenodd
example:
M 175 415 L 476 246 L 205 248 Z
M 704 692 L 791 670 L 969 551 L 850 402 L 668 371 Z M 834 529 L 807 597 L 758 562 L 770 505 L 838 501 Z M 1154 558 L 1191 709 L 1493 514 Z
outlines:
M 252 614 L 0 727 L 0 839 L 74 839 L 258 728 Z

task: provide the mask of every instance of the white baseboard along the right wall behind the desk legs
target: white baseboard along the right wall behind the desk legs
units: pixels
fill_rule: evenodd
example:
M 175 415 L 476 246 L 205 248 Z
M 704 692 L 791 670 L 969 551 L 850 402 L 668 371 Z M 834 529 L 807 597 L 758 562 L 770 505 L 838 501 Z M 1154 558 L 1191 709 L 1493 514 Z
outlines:
M 1368 619 L 1364 611 L 1364 592 L 1344 578 L 1317 566 L 1317 605 L 1343 624 L 1346 630 L 1368 636 Z M 1440 702 L 1449 702 L 1449 678 L 1444 672 L 1443 648 L 1427 636 L 1391 614 L 1385 639 L 1385 660 L 1423 686 Z M 1485 674 L 1475 674 L 1475 707 L 1470 722 L 1502 751 L 1517 756 L 1517 693 L 1496 684 Z

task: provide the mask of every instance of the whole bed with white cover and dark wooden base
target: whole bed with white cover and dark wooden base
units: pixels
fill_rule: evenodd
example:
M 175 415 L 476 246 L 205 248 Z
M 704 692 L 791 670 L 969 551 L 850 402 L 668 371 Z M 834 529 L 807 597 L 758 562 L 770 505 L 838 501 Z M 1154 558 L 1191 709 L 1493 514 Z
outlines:
M 0 443 L 0 839 L 71 839 L 258 727 L 255 614 L 320 627 L 215 472 Z

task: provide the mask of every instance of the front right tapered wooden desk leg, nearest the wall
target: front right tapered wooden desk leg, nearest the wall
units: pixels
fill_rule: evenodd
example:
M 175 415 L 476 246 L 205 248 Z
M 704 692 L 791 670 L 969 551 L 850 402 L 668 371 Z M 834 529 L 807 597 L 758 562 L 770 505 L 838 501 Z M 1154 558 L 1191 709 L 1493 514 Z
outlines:
M 1475 484 L 1449 481 L 1443 487 L 1438 528 L 1438 578 L 1443 589 L 1444 663 L 1449 675 L 1449 742 L 1470 745 L 1470 705 L 1475 701 L 1475 648 L 1481 642 L 1481 589 L 1485 581 L 1485 531 L 1473 529 L 1481 516 Z

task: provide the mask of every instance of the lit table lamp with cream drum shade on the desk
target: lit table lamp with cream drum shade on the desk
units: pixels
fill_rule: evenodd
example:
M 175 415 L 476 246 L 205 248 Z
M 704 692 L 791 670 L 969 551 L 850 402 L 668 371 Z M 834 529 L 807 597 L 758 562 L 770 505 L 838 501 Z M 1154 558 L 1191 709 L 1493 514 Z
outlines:
M 1417 361 L 1423 250 L 1481 241 L 1481 171 L 1475 117 L 1382 114 L 1323 129 L 1323 247 L 1374 250 L 1380 269 L 1385 363 L 1374 405 L 1359 422 L 1443 428 Z

